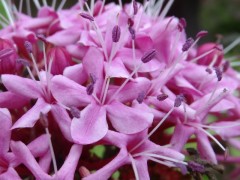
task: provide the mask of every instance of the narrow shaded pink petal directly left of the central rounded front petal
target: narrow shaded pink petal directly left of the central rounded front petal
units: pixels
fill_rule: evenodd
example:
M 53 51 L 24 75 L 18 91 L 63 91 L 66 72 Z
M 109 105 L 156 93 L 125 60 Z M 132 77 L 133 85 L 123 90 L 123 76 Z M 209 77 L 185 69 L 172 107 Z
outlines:
M 63 109 L 59 105 L 52 105 L 51 112 L 53 114 L 53 117 L 55 121 L 57 122 L 59 128 L 62 131 L 62 134 L 64 137 L 72 142 L 71 132 L 70 132 L 70 126 L 71 126 L 71 119 L 65 109 Z

